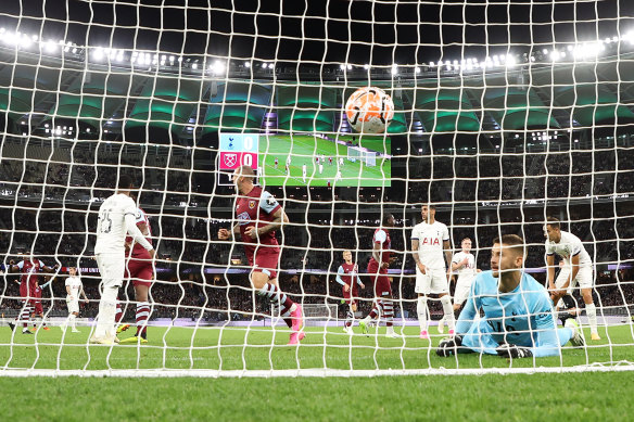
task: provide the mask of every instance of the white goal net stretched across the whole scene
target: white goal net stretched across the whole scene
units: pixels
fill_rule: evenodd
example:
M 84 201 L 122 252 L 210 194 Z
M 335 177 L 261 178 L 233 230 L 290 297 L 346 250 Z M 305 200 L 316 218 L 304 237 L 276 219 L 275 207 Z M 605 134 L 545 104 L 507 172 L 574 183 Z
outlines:
M 0 375 L 634 368 L 624 7 L 66 3 L 0 13 Z M 363 87 L 385 133 L 347 122 Z M 123 279 L 122 343 L 93 344 L 124 175 L 156 255 Z

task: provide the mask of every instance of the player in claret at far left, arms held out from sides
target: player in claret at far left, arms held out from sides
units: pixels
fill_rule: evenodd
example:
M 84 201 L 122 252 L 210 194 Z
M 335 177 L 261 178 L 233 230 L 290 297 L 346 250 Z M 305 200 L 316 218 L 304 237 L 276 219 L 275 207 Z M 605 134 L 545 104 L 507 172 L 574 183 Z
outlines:
M 45 263 L 34 256 L 25 257 L 23 260 L 13 265 L 10 263 L 9 270 L 22 272 L 20 278 L 20 295 L 22 296 L 22 309 L 16 317 L 16 322 L 22 322 L 22 333 L 33 334 L 28 330 L 28 319 L 33 312 L 43 316 L 41 305 L 41 287 L 38 285 L 38 274 L 40 272 L 54 272 L 60 266 L 47 267 Z M 15 329 L 13 323 L 9 323 L 12 330 Z M 46 328 L 46 325 L 45 325 Z

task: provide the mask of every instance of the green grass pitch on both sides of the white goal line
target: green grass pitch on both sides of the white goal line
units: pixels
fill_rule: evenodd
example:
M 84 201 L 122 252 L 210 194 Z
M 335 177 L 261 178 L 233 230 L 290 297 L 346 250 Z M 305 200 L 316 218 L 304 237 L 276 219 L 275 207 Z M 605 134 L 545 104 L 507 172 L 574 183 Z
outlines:
M 358 328 L 357 328 L 358 330 Z M 286 346 L 288 330 L 244 328 L 150 328 L 148 345 L 87 346 L 80 334 L 58 328 L 35 336 L 0 330 L 3 368 L 42 369 L 388 369 L 532 367 L 495 356 L 440 358 L 432 341 L 407 328 L 404 340 L 355 335 L 341 329 L 307 328 L 300 347 Z M 398 330 L 397 330 L 398 331 Z M 589 333 L 585 333 L 589 337 Z M 600 332 L 586 349 L 565 348 L 561 358 L 537 366 L 634 361 L 630 325 Z M 351 348 L 351 343 L 355 346 Z M 376 345 L 381 348 L 377 348 Z M 221 347 L 218 347 L 221 345 Z M 193 346 L 191 348 L 190 346 Z M 0 378 L 4 420 L 623 420 L 632 414 L 634 374 L 553 373 L 458 376 L 299 379 L 7 379 Z

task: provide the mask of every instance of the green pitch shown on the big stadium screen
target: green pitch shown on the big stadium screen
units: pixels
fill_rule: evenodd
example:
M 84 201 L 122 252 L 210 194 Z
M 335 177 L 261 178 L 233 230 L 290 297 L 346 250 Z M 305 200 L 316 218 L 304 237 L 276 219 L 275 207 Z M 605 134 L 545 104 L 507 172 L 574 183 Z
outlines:
M 348 137 L 350 138 L 350 137 Z M 345 141 L 347 138 L 342 138 Z M 362 145 L 381 153 L 390 154 L 390 139 L 383 141 L 378 138 L 362 140 Z M 324 171 L 319 174 L 319 167 L 315 163 L 315 155 L 325 155 Z M 286 175 L 284 165 L 287 157 L 291 156 L 290 175 Z M 328 157 L 332 157 L 329 165 Z M 344 158 L 341 168 L 341 180 L 335 180 L 337 163 L 339 157 Z M 377 158 L 377 166 L 367 167 L 359 162 L 351 162 L 347 158 L 347 146 L 312 136 L 271 136 L 259 138 L 259 159 L 264 177 L 261 182 L 265 186 L 309 186 L 326 187 L 330 180 L 331 186 L 339 187 L 390 187 L 392 177 L 391 159 Z M 278 158 L 278 168 L 275 168 L 275 158 Z M 306 164 L 306 182 L 302 177 L 302 166 Z

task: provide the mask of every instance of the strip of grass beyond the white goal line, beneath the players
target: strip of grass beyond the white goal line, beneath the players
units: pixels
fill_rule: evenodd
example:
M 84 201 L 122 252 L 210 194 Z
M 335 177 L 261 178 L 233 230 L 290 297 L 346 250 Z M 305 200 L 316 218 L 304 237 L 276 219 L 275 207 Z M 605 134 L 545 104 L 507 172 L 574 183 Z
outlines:
M 358 331 L 358 328 L 355 330 Z M 504 368 L 538 366 L 576 366 L 616 361 L 634 361 L 630 325 L 610 327 L 600 332 L 603 340 L 588 347 L 567 346 L 561 357 L 508 361 L 496 356 L 477 354 L 441 358 L 435 345 L 442 335 L 419 340 L 417 328 L 405 329 L 406 337 L 379 335 L 350 337 L 341 328 L 307 328 L 300 347 L 287 346 L 289 331 L 254 323 L 245 328 L 150 328 L 150 343 L 140 347 L 87 345 L 88 328 L 81 333 L 53 327 L 36 335 L 0 332 L 0 365 L 3 368 L 40 369 L 427 369 L 427 368 Z M 13 341 L 12 341 L 13 335 Z M 589 332 L 585 333 L 589 338 Z M 63 346 L 60 346 L 63 344 Z M 379 346 L 379 347 L 377 347 Z

